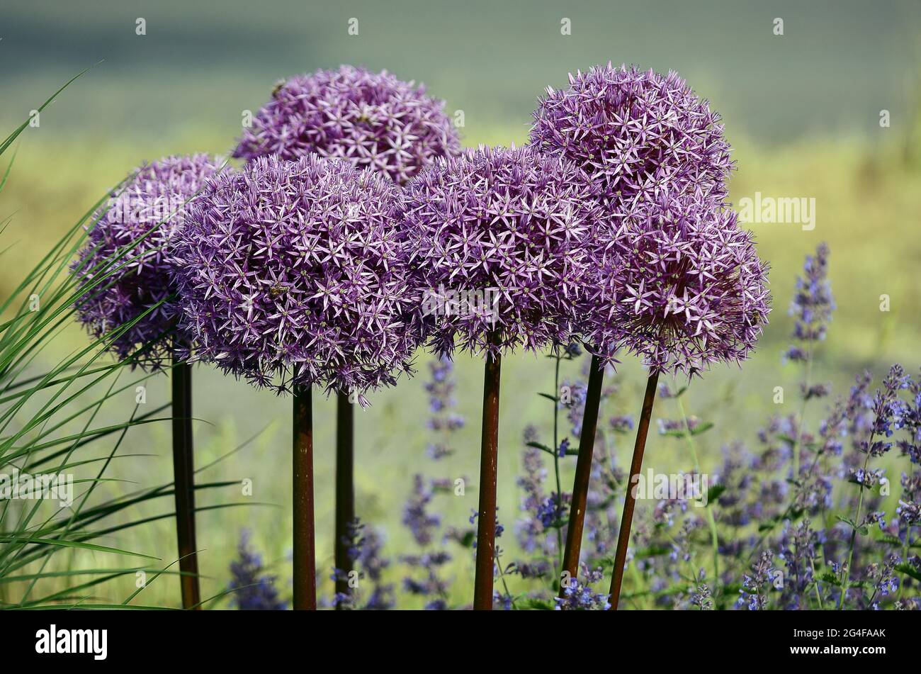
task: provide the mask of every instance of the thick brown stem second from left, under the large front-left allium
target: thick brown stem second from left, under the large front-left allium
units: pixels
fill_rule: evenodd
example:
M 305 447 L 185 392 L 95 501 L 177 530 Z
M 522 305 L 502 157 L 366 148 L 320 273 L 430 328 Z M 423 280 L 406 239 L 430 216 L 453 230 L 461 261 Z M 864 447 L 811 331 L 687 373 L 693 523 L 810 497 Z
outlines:
M 313 406 L 310 387 L 294 389 L 292 495 L 294 501 L 294 608 L 316 610 L 317 564 L 313 525 Z

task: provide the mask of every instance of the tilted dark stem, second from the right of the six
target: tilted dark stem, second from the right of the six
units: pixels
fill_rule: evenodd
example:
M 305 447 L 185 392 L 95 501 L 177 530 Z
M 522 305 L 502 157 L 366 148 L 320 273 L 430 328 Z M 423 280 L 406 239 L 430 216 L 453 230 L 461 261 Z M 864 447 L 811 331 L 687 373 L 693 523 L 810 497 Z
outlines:
M 601 401 L 601 382 L 604 379 L 604 366 L 597 355 L 591 356 L 589 366 L 589 389 L 585 395 L 585 412 L 582 414 L 582 433 L 578 440 L 578 458 L 576 459 L 576 480 L 573 482 L 572 504 L 569 506 L 569 527 L 566 529 L 566 550 L 563 555 L 563 568 L 560 577 L 568 573 L 569 578 L 576 578 L 578 572 L 579 552 L 582 547 L 582 529 L 585 527 L 585 505 L 589 497 L 589 479 L 591 477 L 591 459 L 595 450 L 595 432 L 598 428 L 598 408 Z M 564 596 L 565 587 L 560 583 L 560 597 Z

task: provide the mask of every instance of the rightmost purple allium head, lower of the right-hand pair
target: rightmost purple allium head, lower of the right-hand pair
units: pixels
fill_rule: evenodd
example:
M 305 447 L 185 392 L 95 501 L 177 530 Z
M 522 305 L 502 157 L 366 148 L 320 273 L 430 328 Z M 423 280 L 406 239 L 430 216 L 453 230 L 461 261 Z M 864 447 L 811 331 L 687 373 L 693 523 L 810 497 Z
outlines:
M 599 238 L 584 334 L 613 360 L 624 346 L 655 371 L 740 362 L 770 310 L 767 265 L 736 214 L 697 195 L 663 195 Z

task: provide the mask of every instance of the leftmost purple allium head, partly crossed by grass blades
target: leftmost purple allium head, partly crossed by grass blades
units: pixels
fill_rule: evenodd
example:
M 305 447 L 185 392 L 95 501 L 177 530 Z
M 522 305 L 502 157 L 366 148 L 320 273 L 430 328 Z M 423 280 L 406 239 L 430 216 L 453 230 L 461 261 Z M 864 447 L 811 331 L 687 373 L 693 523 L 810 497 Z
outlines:
M 112 275 L 76 303 L 87 331 L 102 337 L 149 310 L 112 343 L 119 357 L 134 354 L 139 365 L 151 368 L 169 360 L 171 345 L 165 338 L 175 306 L 169 300 L 174 288 L 167 247 L 183 225 L 189 200 L 224 166 L 223 159 L 193 155 L 166 157 L 137 168 L 121 192 L 112 192 L 89 230 L 74 273 L 86 283 L 100 274 Z M 117 261 L 106 263 L 119 253 Z

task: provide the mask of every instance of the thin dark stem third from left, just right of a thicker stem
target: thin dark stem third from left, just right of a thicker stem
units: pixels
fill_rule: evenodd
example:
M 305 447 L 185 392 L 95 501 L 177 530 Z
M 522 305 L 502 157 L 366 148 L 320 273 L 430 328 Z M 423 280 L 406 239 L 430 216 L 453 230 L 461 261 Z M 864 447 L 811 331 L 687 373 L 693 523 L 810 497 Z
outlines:
M 355 413 L 347 391 L 336 395 L 336 594 L 351 594 L 348 573 L 355 561 L 349 555 L 349 527 L 355 519 Z M 344 609 L 344 602 L 336 609 Z

